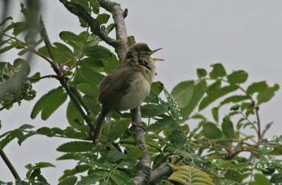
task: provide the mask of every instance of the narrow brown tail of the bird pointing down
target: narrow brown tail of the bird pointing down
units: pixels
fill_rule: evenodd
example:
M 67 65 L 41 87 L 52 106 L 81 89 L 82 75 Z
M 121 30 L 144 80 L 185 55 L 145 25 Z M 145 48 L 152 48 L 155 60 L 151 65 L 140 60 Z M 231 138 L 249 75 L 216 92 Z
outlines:
M 94 138 L 93 138 L 93 143 L 95 145 L 95 141 L 97 138 L 101 136 L 101 133 L 106 126 L 106 124 L 109 124 L 111 122 L 111 111 L 104 113 L 103 111 L 100 112 L 98 115 L 97 119 L 94 122 L 94 125 L 96 125 L 95 133 L 94 133 Z

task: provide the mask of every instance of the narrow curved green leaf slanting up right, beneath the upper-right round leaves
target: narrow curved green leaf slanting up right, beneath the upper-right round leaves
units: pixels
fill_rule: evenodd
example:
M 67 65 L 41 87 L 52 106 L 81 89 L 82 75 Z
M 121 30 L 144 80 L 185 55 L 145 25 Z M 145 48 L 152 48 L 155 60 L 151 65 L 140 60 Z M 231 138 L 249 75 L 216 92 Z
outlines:
M 206 108 L 209 104 L 211 104 L 215 100 L 219 99 L 219 97 L 227 95 L 228 93 L 231 93 L 237 89 L 238 87 L 235 85 L 230 85 L 230 86 L 225 86 L 223 88 L 219 88 L 214 93 L 207 95 L 206 97 L 203 98 L 202 102 L 199 105 L 199 111 Z

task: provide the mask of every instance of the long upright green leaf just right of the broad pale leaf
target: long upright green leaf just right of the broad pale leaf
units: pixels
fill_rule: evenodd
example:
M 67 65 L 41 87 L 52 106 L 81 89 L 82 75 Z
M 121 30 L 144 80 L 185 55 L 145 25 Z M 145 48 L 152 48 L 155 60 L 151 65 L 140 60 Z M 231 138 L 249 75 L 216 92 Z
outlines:
M 206 90 L 207 82 L 205 80 L 200 80 L 200 82 L 195 85 L 190 103 L 180 111 L 184 120 L 188 119 L 192 111 L 197 107 Z

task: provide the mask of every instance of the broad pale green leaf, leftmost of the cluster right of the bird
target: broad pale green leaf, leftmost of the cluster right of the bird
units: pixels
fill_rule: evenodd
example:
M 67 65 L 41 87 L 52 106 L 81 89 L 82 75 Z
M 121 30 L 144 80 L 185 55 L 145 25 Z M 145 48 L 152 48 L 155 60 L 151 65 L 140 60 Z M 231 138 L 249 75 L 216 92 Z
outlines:
M 176 99 L 176 102 L 178 102 L 178 106 L 181 109 L 190 103 L 194 87 L 194 80 L 183 81 L 178 83 L 178 85 L 171 91 L 171 95 Z

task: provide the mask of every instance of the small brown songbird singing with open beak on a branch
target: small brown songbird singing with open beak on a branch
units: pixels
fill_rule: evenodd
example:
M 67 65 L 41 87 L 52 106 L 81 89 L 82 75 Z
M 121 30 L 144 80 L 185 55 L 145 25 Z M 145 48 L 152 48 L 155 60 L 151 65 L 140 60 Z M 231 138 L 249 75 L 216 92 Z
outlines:
M 135 109 L 149 95 L 156 75 L 154 62 L 164 60 L 152 58 L 151 55 L 160 49 L 162 48 L 151 50 L 143 42 L 133 44 L 125 51 L 121 64 L 102 79 L 98 94 L 102 109 L 94 121 L 94 145 L 104 126 L 110 121 L 112 112 Z

